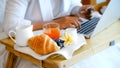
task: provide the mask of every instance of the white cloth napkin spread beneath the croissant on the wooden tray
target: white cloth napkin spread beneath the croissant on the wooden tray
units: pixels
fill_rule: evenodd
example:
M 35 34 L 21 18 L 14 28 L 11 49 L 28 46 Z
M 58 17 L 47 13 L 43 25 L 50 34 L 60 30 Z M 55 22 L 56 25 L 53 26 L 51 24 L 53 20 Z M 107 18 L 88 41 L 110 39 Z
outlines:
M 42 32 L 39 31 L 39 32 L 34 32 L 34 33 L 40 34 Z M 19 45 L 15 45 L 14 49 L 19 51 L 19 52 L 28 54 L 28 55 L 30 55 L 30 56 L 38 59 L 38 60 L 45 60 L 46 58 L 48 58 L 49 56 L 51 56 L 53 54 L 59 54 L 59 55 L 62 55 L 63 57 L 65 57 L 66 59 L 70 59 L 75 50 L 79 49 L 81 46 L 86 44 L 86 40 L 85 40 L 85 38 L 82 34 L 78 34 L 78 38 L 79 38 L 79 40 L 78 40 L 77 43 L 68 45 L 68 46 L 60 49 L 59 51 L 56 51 L 56 52 L 53 52 L 53 53 L 50 53 L 50 54 L 47 54 L 47 55 L 37 54 L 28 46 L 27 47 L 21 47 Z

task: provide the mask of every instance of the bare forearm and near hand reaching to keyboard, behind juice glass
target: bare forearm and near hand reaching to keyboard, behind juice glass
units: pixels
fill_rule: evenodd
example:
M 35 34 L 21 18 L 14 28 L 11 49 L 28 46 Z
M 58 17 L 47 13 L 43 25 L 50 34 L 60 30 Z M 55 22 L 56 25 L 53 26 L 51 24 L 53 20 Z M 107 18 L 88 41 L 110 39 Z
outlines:
M 50 22 L 32 22 L 33 31 L 40 30 L 43 28 L 43 25 L 46 23 L 56 22 L 60 25 L 60 29 L 65 28 L 80 28 L 80 22 L 82 22 L 78 17 L 66 16 L 57 18 Z

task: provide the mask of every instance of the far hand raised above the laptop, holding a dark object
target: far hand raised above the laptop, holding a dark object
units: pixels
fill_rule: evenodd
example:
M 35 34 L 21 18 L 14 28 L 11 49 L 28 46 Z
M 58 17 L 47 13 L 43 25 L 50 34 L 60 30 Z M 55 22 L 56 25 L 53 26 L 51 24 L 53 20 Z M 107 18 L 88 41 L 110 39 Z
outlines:
M 83 5 L 79 10 L 79 16 L 82 18 L 90 19 L 92 10 L 93 10 L 93 6 Z

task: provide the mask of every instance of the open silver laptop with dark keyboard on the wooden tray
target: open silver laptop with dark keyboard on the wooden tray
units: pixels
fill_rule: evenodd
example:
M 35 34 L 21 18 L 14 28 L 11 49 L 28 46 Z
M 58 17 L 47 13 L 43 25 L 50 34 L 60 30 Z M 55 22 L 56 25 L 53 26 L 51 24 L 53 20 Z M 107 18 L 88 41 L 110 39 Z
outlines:
M 120 0 L 111 0 L 107 8 L 105 9 L 103 15 L 100 18 L 93 18 L 87 22 L 82 23 L 84 24 L 84 26 L 77 29 L 77 32 L 80 34 L 83 34 L 87 38 L 90 38 L 96 35 L 97 33 L 101 32 L 103 29 L 110 26 L 112 23 L 114 23 L 120 18 L 120 9 L 119 9 L 120 4 L 119 3 L 120 3 Z M 91 23 L 91 22 L 94 25 L 90 26 L 91 25 L 90 24 L 89 27 L 88 27 L 88 24 L 85 25 L 85 23 Z

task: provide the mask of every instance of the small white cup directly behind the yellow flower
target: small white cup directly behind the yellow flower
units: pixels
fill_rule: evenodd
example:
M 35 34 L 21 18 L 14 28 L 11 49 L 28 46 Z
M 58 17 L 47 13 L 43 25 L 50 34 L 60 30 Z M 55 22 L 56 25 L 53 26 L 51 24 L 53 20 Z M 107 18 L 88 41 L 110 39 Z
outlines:
M 76 28 L 67 28 L 65 32 L 69 33 L 71 37 L 73 38 L 74 42 L 77 42 L 78 35 L 77 35 L 77 29 Z

